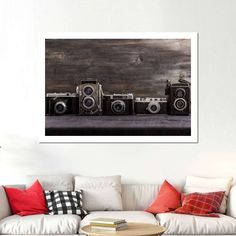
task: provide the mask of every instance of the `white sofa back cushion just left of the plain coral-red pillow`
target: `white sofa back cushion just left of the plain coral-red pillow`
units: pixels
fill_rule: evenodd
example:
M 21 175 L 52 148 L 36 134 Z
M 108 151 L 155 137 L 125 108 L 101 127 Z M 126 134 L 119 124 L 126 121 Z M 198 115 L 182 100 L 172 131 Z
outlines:
M 158 184 L 122 184 L 123 210 L 146 209 L 159 191 Z

